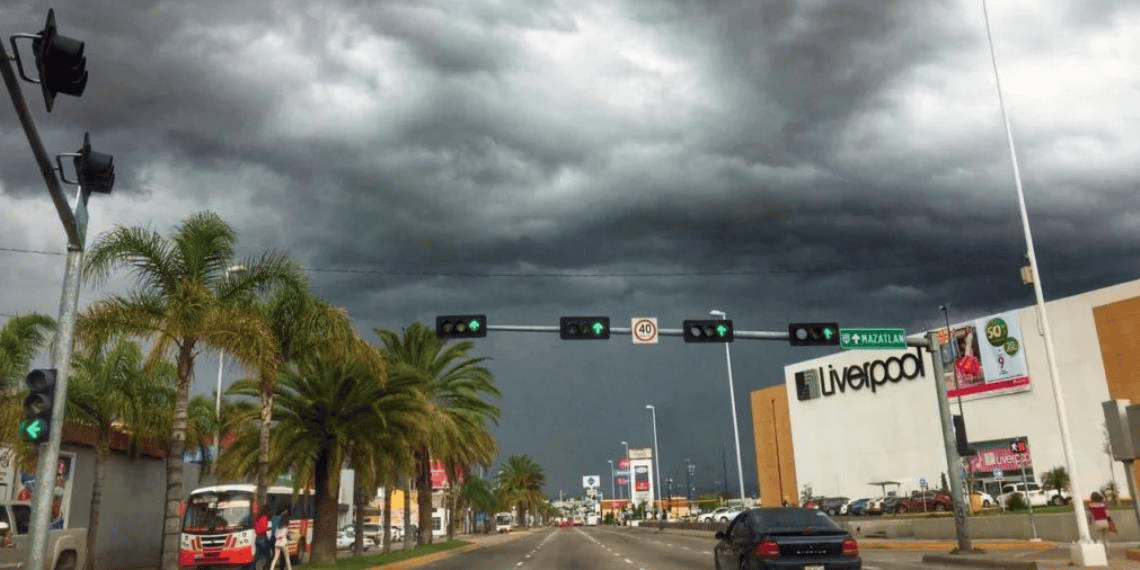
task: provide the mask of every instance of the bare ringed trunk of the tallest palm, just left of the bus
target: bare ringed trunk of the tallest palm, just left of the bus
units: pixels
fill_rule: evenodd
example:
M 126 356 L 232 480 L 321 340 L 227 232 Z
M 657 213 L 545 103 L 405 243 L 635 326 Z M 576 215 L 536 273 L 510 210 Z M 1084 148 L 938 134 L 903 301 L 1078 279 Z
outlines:
M 165 516 L 162 528 L 161 561 L 163 570 L 178 569 L 181 524 L 178 511 L 182 499 L 182 451 L 186 449 L 187 408 L 194 372 L 194 341 L 184 340 L 178 350 L 178 382 L 174 388 L 174 415 L 171 422 L 170 449 L 166 453 Z

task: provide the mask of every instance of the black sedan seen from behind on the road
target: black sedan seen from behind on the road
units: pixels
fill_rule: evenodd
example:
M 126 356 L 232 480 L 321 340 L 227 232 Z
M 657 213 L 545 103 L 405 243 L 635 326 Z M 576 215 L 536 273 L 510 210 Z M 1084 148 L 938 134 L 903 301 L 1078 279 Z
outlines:
M 858 543 L 815 508 L 744 511 L 716 537 L 717 570 L 863 568 Z

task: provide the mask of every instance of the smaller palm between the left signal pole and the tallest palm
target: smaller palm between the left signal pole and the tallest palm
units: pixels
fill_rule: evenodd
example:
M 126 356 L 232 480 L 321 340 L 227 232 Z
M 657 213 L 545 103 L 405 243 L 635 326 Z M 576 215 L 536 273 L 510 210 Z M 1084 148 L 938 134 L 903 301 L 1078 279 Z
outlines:
M 95 480 L 91 484 L 91 514 L 87 530 L 87 570 L 100 567 L 96 544 L 106 461 L 111 457 L 111 438 L 116 431 L 130 437 L 130 450 L 137 456 L 142 434 L 169 427 L 168 414 L 174 400 L 174 366 L 162 363 L 142 368 L 142 350 L 135 342 L 120 339 L 114 347 L 89 347 L 73 356 L 72 376 L 67 385 L 67 417 L 95 429 Z

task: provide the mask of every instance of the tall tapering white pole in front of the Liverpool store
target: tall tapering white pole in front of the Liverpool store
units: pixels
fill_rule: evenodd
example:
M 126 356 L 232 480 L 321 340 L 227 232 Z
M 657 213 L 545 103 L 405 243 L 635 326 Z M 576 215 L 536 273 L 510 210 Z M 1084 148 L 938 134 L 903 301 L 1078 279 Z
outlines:
M 990 43 L 990 58 L 994 67 L 994 81 L 997 85 L 997 105 L 1001 107 L 1002 121 L 1005 123 L 1005 139 L 1009 142 L 1009 156 L 1013 164 L 1013 184 L 1017 187 L 1017 205 L 1021 213 L 1021 228 L 1025 231 L 1025 245 L 1029 258 L 1029 269 L 1033 271 L 1033 293 L 1037 299 L 1037 311 L 1041 315 L 1041 328 L 1045 336 L 1045 358 L 1049 360 L 1049 374 L 1053 385 L 1053 404 L 1057 406 L 1057 423 L 1061 432 L 1061 448 L 1065 450 L 1065 462 L 1068 464 L 1069 484 L 1073 487 L 1073 515 L 1076 518 L 1080 542 L 1074 544 L 1072 554 L 1081 565 L 1105 565 L 1107 553 L 1104 544 L 1093 543 L 1089 536 L 1089 521 L 1085 520 L 1084 491 L 1081 478 L 1077 475 L 1077 464 L 1073 457 L 1073 443 L 1069 440 L 1068 414 L 1065 410 L 1065 398 L 1061 396 L 1060 372 L 1057 368 L 1057 357 L 1053 355 L 1053 335 L 1049 327 L 1049 316 L 1045 312 L 1045 295 L 1041 287 L 1041 271 L 1037 270 L 1037 254 L 1033 249 L 1033 234 L 1029 231 L 1029 215 L 1025 207 L 1025 192 L 1021 189 L 1021 171 L 1017 165 L 1017 148 L 1013 146 L 1013 131 L 1005 113 L 1005 100 L 1001 91 L 1001 78 L 997 74 L 997 55 L 994 50 L 993 34 L 990 31 L 990 11 L 986 0 L 982 0 L 982 13 L 986 21 L 986 41 Z

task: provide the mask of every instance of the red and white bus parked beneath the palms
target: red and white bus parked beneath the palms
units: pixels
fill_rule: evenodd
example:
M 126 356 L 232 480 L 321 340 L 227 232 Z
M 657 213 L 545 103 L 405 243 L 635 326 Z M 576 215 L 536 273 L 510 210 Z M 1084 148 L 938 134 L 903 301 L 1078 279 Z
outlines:
M 253 484 L 218 484 L 190 491 L 182 503 L 180 568 L 242 568 L 253 562 L 255 512 L 270 516 L 290 508 L 290 557 L 294 564 L 309 559 L 316 498 L 290 487 L 270 487 L 264 508 L 254 508 Z

